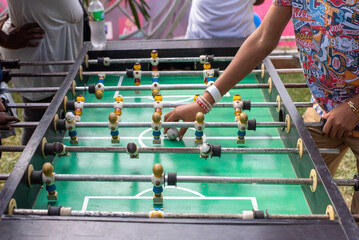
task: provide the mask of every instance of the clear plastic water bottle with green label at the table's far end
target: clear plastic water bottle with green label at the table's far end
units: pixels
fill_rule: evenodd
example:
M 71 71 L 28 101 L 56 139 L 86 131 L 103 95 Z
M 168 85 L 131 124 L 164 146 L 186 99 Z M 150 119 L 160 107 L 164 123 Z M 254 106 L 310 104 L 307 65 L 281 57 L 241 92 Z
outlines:
M 89 7 L 91 43 L 97 49 L 106 47 L 105 12 L 99 0 L 92 0 Z

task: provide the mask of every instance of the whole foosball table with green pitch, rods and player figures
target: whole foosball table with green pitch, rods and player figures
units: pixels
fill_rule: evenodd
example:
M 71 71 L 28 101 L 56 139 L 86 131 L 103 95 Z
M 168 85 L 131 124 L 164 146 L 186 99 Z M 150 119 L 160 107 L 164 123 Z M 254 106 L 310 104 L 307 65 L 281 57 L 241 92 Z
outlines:
M 243 39 L 85 43 L 0 193 L 5 238 L 359 239 L 355 219 L 271 59 L 195 122 Z M 17 64 L 21 65 L 18 61 Z M 46 75 L 48 74 L 48 75 Z M 53 73 L 54 74 L 54 73 Z M 21 77 L 16 71 L 8 76 Z M 36 74 L 33 74 L 36 77 Z M 38 76 L 51 76 L 39 73 Z M 36 81 L 36 79 L 34 79 Z M 36 89 L 29 89 L 36 91 Z M 16 91 L 9 89 L 8 91 Z M 163 134 L 168 128 L 167 134 Z M 179 128 L 188 128 L 182 140 Z M 157 230 L 155 230 L 157 229 Z

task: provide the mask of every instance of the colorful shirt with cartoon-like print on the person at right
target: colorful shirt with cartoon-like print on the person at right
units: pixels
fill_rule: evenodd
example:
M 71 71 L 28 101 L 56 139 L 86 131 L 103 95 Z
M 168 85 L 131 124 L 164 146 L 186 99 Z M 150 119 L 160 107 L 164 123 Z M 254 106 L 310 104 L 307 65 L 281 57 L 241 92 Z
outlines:
M 274 0 L 292 7 L 304 76 L 319 114 L 359 93 L 359 4 L 356 0 Z

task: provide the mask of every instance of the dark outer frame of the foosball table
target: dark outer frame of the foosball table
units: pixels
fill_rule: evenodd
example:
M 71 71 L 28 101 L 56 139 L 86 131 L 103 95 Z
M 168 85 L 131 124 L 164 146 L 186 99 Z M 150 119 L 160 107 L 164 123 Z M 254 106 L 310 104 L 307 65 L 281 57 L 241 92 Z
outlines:
M 61 141 L 64 132 L 55 133 L 53 118 L 63 108 L 63 99 L 68 94 L 73 79 L 78 79 L 78 69 L 83 64 L 85 55 L 90 59 L 97 57 L 110 58 L 141 58 L 149 57 L 153 49 L 160 52 L 159 57 L 189 57 L 203 54 L 215 56 L 233 56 L 244 39 L 208 39 L 208 40 L 147 40 L 147 41 L 118 41 L 109 42 L 107 49 L 89 51 L 90 43 L 86 42 L 78 58 L 72 65 L 67 77 L 56 93 L 54 100 L 46 110 L 39 126 L 26 145 L 17 164 L 11 172 L 3 190 L 0 193 L 1 235 L 6 238 L 241 238 L 241 239 L 359 239 L 359 230 L 349 212 L 339 190 L 318 151 L 315 147 L 303 120 L 296 110 L 292 100 L 284 88 L 274 66 L 269 59 L 264 65 L 267 73 L 264 78 L 258 76 L 262 83 L 270 76 L 274 83 L 272 93 L 263 89 L 268 101 L 275 101 L 277 94 L 284 104 L 282 111 L 290 114 L 292 130 L 289 134 L 281 133 L 286 147 L 296 147 L 300 136 L 308 153 L 299 159 L 291 156 L 297 177 L 309 177 L 311 168 L 315 168 L 320 179 L 318 190 L 310 192 L 308 186 L 303 186 L 304 195 L 313 213 L 325 213 L 323 208 L 330 203 L 336 214 L 334 221 L 330 220 L 200 220 L 200 219 L 118 219 L 118 218 L 84 218 L 84 217 L 54 217 L 54 216 L 10 216 L 7 207 L 11 198 L 15 198 L 19 208 L 31 208 L 41 186 L 28 187 L 25 184 L 27 168 L 31 163 L 35 169 L 41 169 L 44 162 L 52 161 L 54 156 L 41 156 L 40 148 L 44 137 L 49 142 Z M 181 63 L 183 64 L 183 63 Z M 219 67 L 225 67 L 220 63 Z M 174 64 L 175 67 L 177 64 Z M 173 64 L 160 64 L 161 68 Z M 109 66 L 106 70 L 121 70 L 132 66 Z M 200 65 L 192 64 L 192 69 Z M 148 68 L 148 66 L 147 66 Z M 90 66 L 86 71 L 99 71 L 101 66 Z M 143 67 L 146 70 L 146 66 Z M 278 113 L 271 107 L 271 113 L 276 120 Z M 156 228 L 157 232 L 154 231 Z

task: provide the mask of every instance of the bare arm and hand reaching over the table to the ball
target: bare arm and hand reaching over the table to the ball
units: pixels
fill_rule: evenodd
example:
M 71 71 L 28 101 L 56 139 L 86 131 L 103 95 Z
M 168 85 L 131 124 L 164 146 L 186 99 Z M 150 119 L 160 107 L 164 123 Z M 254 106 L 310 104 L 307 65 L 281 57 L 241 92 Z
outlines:
M 291 7 L 271 6 L 260 27 L 243 43 L 230 65 L 214 83 L 222 96 L 273 51 L 290 18 Z M 205 92 L 202 96 L 211 104 L 214 103 L 214 99 L 209 93 Z M 166 114 L 164 120 L 191 122 L 195 120 L 197 112 L 204 112 L 204 110 L 196 102 L 193 102 L 177 107 Z M 186 130 L 181 128 L 180 139 L 183 138 Z M 164 133 L 166 132 L 167 129 L 164 130 Z

